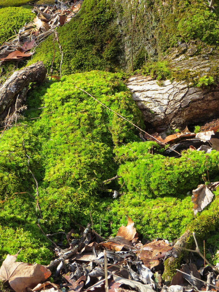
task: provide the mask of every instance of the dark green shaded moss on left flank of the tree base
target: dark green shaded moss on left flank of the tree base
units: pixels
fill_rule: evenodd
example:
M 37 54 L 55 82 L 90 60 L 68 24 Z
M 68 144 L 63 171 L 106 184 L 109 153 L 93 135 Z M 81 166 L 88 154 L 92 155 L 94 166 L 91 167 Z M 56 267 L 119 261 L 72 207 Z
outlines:
M 106 70 L 115 68 L 118 63 L 119 39 L 117 39 L 117 27 L 111 23 L 115 14 L 112 6 L 110 1 L 105 0 L 84 1 L 79 14 L 57 30 L 63 49 L 63 74 L 89 71 L 94 68 Z M 43 60 L 50 70 L 53 51 L 52 36 L 50 36 L 36 49 L 31 62 Z M 59 72 L 60 60 L 61 56 L 57 49 L 53 63 L 54 74 Z

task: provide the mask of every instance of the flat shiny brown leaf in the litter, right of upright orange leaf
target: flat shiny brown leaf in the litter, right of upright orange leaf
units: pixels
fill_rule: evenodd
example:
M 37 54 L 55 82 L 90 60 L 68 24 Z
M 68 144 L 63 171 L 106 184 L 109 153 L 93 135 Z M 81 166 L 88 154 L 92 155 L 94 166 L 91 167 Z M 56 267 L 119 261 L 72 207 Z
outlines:
M 146 267 L 152 269 L 159 265 L 159 260 L 164 258 L 167 251 L 170 251 L 173 246 L 170 246 L 164 240 L 153 240 L 145 244 L 141 250 L 136 252 L 136 255 L 143 261 Z

